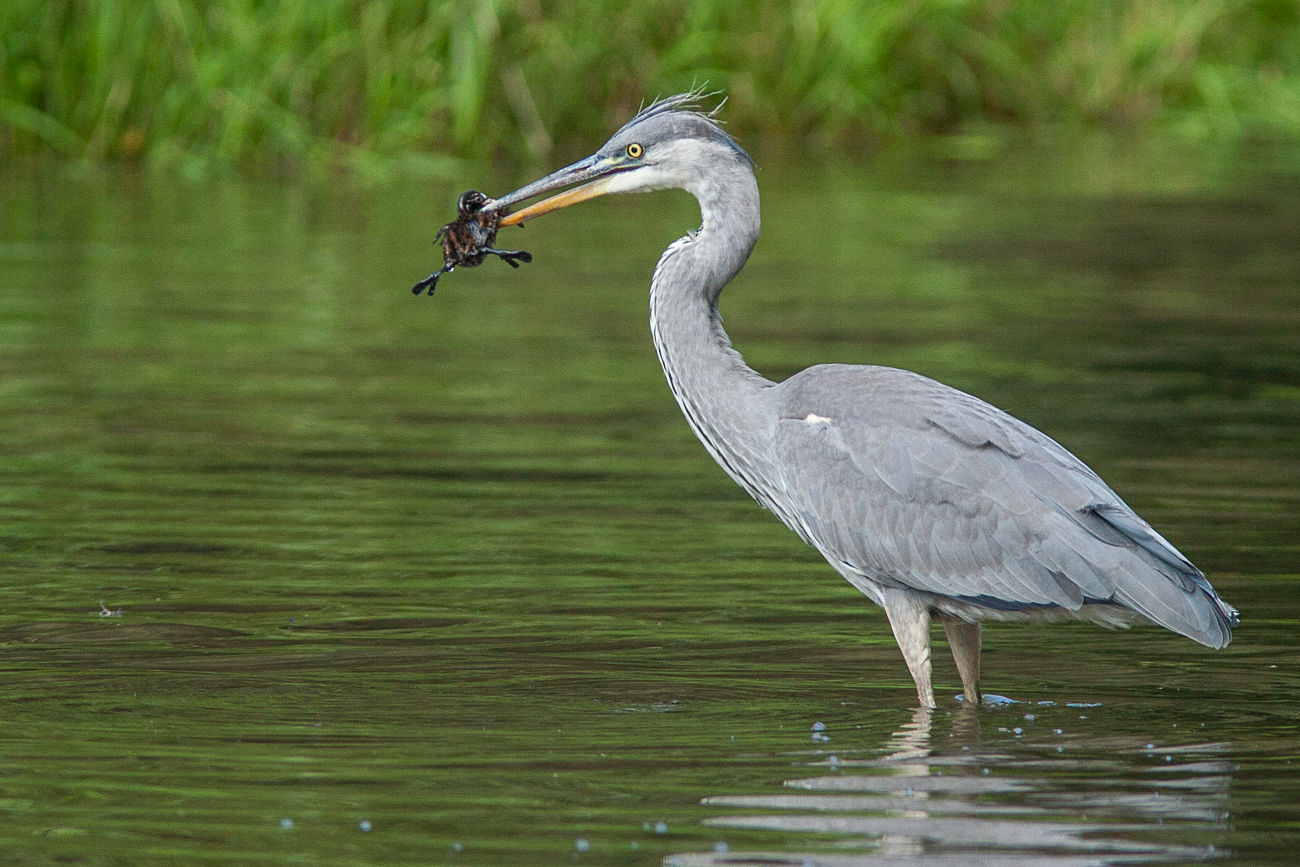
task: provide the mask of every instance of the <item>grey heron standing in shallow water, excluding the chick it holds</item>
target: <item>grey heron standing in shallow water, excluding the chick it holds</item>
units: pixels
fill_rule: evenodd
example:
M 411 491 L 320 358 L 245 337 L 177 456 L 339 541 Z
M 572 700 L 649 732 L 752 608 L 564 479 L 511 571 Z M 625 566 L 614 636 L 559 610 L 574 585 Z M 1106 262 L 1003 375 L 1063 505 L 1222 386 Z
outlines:
M 718 313 L 759 234 L 749 155 L 699 94 L 642 109 L 594 155 L 495 201 L 519 225 L 615 192 L 681 188 L 699 229 L 664 251 L 650 330 L 710 455 L 884 608 L 923 707 L 931 619 L 968 703 L 984 620 L 1156 623 L 1223 647 L 1238 612 L 1082 460 L 1001 409 L 907 370 L 819 364 L 783 382 L 750 369 Z M 715 109 L 716 110 L 716 109 Z

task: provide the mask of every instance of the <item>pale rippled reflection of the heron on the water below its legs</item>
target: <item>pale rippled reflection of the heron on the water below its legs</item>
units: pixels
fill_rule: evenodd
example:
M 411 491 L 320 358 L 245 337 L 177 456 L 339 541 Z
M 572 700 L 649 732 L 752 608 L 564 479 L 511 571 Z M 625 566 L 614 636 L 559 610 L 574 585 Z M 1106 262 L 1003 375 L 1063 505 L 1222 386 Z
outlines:
M 1028 724 L 1036 715 L 1027 712 Z M 835 772 L 786 780 L 814 794 L 724 796 L 706 825 L 777 831 L 815 840 L 816 853 L 714 851 L 675 855 L 698 864 L 1115 864 L 1230 855 L 1214 844 L 1228 827 L 1227 744 L 1156 749 L 1131 737 L 982 744 L 980 712 L 965 708 L 941 745 L 932 712 L 918 710 L 879 758 L 829 755 Z M 1005 731 L 1005 729 L 1002 729 Z M 939 749 L 941 746 L 941 749 Z M 840 850 L 840 851 L 835 851 Z

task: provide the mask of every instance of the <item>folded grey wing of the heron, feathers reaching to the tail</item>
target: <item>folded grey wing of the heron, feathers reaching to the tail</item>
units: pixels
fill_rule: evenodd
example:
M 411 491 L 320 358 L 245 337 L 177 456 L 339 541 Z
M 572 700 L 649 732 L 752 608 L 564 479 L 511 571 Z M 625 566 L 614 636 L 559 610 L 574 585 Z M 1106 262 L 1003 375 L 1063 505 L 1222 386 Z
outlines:
M 1231 641 L 1236 612 L 1201 572 L 1030 425 L 890 368 L 777 389 L 779 513 L 836 568 L 989 608 L 1117 603 Z

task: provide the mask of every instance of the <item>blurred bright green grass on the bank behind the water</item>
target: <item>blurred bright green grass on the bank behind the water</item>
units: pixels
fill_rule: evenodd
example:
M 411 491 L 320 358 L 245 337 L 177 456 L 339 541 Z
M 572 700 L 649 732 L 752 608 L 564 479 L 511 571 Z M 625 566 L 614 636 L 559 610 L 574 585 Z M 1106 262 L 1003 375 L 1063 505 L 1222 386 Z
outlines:
M 855 148 L 1014 129 L 1300 135 L 1295 0 L 5 0 L 0 156 L 204 173 L 576 155 L 707 82 Z

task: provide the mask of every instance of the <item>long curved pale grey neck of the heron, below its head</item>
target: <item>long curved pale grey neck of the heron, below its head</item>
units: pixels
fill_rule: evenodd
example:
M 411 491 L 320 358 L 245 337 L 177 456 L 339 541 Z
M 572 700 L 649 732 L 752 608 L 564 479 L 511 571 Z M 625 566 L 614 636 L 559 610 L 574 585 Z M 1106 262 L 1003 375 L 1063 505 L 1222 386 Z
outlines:
M 699 231 L 673 242 L 650 283 L 650 330 L 668 387 L 714 459 L 760 502 L 770 424 L 764 391 L 774 383 L 732 348 L 718 296 L 758 240 L 758 185 L 749 166 L 692 190 Z

